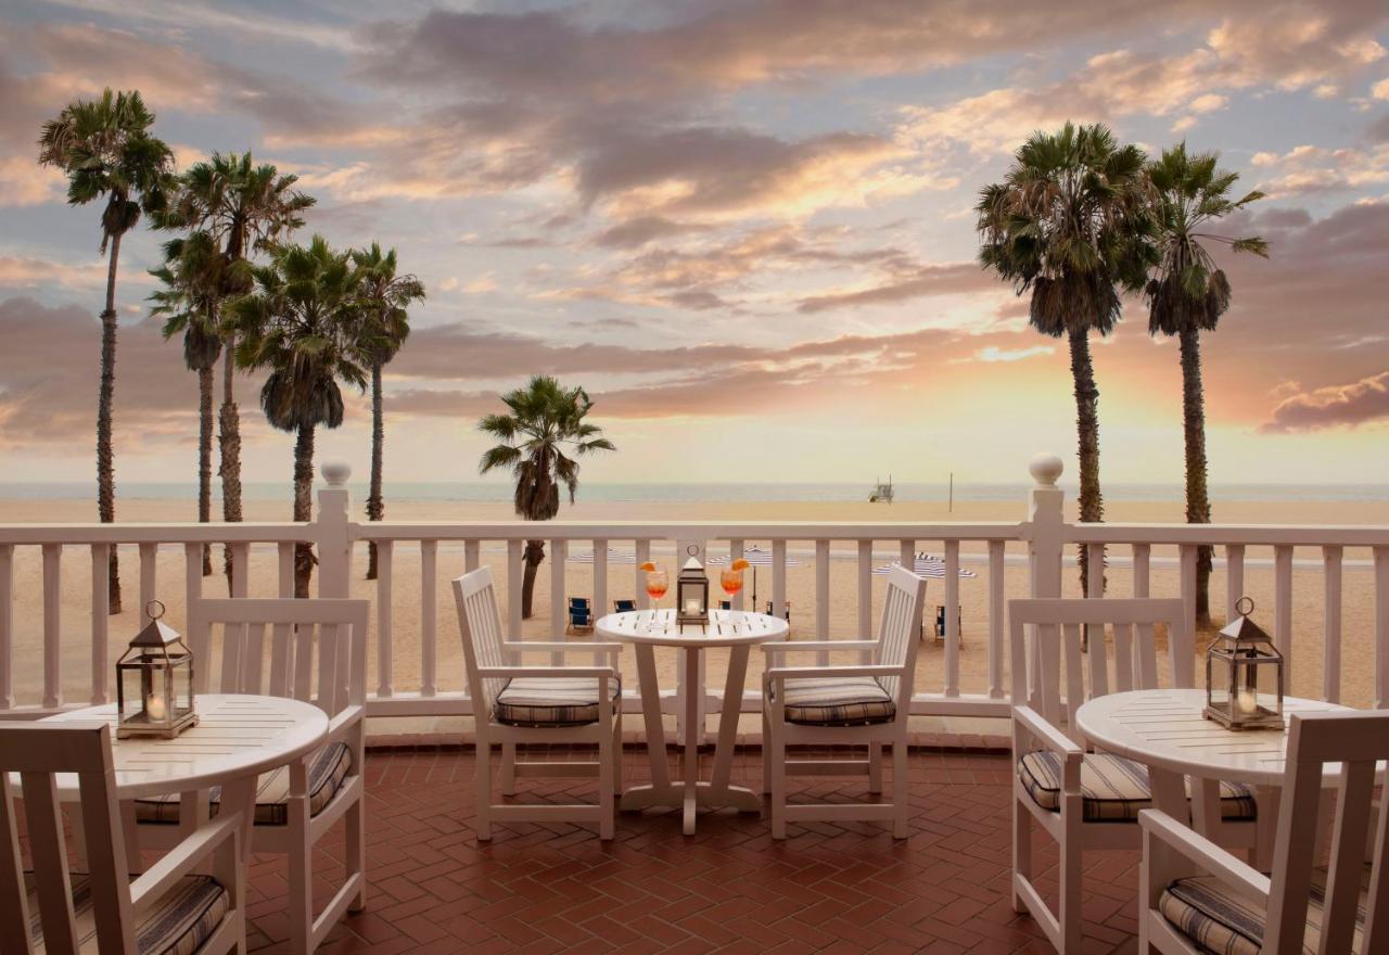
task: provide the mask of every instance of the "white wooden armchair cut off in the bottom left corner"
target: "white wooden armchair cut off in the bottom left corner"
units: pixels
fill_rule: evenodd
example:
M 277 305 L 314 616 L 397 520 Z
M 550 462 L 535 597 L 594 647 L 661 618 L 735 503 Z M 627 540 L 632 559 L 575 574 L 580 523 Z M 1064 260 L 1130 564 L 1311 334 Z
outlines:
M 221 955 L 246 945 L 242 818 L 196 829 L 131 877 L 106 720 L 0 726 L 0 952 Z M 19 773 L 33 870 L 25 872 L 10 773 Z M 68 869 L 57 773 L 76 773 L 86 873 Z M 32 916 L 38 912 L 38 920 Z M 35 933 L 35 929 L 38 933 Z

